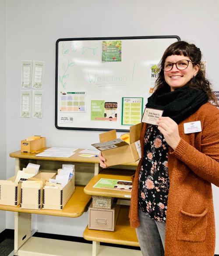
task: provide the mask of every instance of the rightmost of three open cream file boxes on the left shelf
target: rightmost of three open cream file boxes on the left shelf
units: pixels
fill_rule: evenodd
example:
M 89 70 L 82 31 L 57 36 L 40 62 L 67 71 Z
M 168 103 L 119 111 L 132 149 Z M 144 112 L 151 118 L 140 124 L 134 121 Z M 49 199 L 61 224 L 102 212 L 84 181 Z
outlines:
M 43 209 L 62 210 L 75 191 L 75 175 L 63 188 L 46 186 L 43 188 Z

